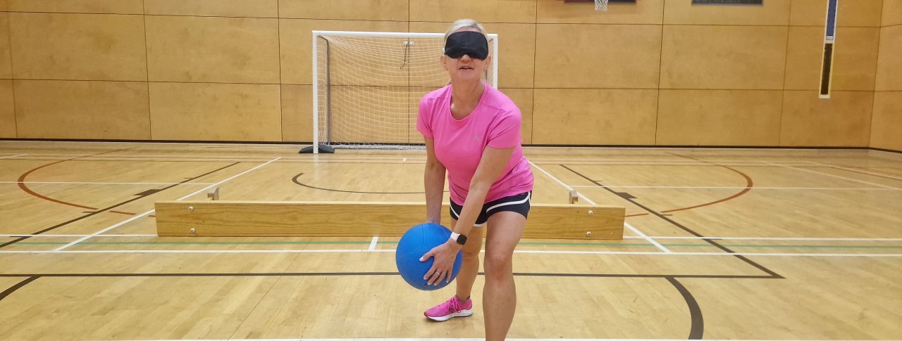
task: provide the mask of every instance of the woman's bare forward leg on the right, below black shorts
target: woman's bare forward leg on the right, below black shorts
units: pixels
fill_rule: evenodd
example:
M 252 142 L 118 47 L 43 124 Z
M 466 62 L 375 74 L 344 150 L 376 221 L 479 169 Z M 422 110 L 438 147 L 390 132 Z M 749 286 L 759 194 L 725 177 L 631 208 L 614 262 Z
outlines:
M 483 314 L 485 339 L 503 340 L 511 328 L 517 307 L 517 291 L 513 281 L 513 249 L 520 242 L 526 217 L 513 211 L 501 211 L 489 217 L 485 236 L 485 287 Z

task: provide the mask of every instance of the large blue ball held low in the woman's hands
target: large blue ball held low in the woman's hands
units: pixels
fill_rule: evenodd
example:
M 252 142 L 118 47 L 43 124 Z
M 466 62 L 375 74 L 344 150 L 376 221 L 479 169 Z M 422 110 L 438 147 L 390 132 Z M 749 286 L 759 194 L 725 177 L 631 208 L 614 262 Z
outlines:
M 451 238 L 451 230 L 438 224 L 419 224 L 408 229 L 400 238 L 398 249 L 395 250 L 395 264 L 398 265 L 398 272 L 404 281 L 419 290 L 433 291 L 444 288 L 448 284 L 444 279 L 438 285 L 428 285 L 428 280 L 423 279 L 435 258 L 429 257 L 425 262 L 420 262 L 419 258 L 433 247 L 446 243 L 448 238 Z M 451 270 L 451 281 L 457 277 L 463 263 L 464 255 L 457 252 Z

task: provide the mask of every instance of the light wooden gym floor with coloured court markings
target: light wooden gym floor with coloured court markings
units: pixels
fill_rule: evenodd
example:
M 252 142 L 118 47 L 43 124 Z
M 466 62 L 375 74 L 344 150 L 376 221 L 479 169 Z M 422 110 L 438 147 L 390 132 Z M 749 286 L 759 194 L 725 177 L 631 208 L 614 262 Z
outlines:
M 153 202 L 421 202 L 423 151 L 0 141 L 0 339 L 474 338 L 397 238 L 158 238 Z M 902 337 L 902 155 L 528 148 L 533 202 L 626 207 L 622 241 L 521 241 L 513 338 Z M 446 222 L 447 223 L 447 222 Z M 529 226 L 529 229 L 542 229 Z

